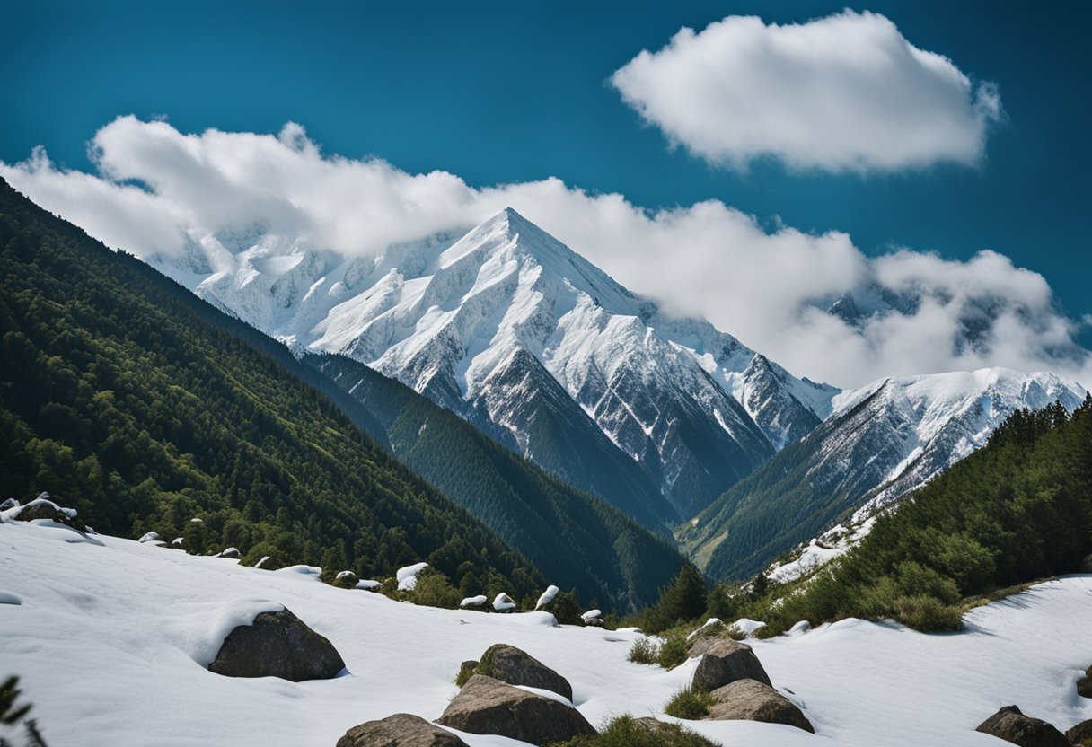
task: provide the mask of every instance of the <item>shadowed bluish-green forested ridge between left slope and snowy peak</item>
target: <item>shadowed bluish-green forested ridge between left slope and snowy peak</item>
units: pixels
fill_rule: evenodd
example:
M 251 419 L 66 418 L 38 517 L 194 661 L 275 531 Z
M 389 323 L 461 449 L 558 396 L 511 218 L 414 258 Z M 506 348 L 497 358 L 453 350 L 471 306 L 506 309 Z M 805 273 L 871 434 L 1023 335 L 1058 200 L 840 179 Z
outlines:
M 306 360 L 376 414 L 399 459 L 519 548 L 550 581 L 578 589 L 593 606 L 622 612 L 648 606 L 682 567 L 666 541 L 408 387 L 343 356 Z M 511 593 L 484 583 L 463 591 Z M 558 621 L 567 620 L 558 616 Z

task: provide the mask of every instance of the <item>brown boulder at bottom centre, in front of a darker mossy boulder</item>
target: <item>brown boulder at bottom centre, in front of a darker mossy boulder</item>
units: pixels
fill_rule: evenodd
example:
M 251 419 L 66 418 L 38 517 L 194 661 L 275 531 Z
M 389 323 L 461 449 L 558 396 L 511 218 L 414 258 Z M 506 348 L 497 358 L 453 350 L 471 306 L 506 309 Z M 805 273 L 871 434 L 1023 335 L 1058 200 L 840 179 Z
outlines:
M 596 733 L 577 709 L 485 675 L 471 677 L 437 723 L 460 732 L 499 734 L 533 745 Z

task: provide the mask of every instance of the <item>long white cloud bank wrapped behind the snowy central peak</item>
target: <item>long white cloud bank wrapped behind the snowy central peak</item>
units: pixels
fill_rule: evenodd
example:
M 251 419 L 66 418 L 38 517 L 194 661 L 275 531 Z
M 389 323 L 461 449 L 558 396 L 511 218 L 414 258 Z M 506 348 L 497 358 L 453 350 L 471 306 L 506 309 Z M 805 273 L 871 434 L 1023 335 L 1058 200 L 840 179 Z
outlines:
M 209 247 L 223 257 L 254 237 L 282 250 L 372 254 L 511 205 L 633 292 L 709 319 L 800 376 L 854 387 L 1007 366 L 1092 382 L 1092 359 L 1076 342 L 1089 320 L 1059 313 L 1041 275 L 995 251 L 869 258 L 844 233 L 767 230 L 717 201 L 648 211 L 553 178 L 475 189 L 443 171 L 325 155 L 292 123 L 277 135 L 185 134 L 122 117 L 91 149 L 94 175 L 60 169 L 41 150 L 0 163 L 0 175 L 150 261 L 197 248 L 216 269 Z

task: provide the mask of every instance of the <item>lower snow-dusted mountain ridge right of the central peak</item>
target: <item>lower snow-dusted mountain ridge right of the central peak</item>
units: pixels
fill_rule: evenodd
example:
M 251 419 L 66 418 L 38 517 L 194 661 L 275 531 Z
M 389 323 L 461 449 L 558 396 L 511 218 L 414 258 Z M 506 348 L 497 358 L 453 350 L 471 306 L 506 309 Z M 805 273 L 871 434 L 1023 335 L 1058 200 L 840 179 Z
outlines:
M 983 446 L 1013 411 L 1085 390 L 1052 374 L 983 369 L 883 379 L 834 398 L 831 415 L 727 490 L 676 536 L 709 574 L 747 578 L 866 503 L 878 508 Z

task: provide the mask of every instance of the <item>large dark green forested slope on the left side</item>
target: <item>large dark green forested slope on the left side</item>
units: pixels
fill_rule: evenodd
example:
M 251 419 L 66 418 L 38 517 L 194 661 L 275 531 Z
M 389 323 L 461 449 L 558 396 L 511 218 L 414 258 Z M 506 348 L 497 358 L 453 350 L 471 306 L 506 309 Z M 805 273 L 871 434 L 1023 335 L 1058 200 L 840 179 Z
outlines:
M 537 570 L 365 431 L 288 351 L 0 181 L 0 485 L 190 553 L 349 568 L 426 560 L 530 593 Z M 190 522 L 200 517 L 202 522 Z

